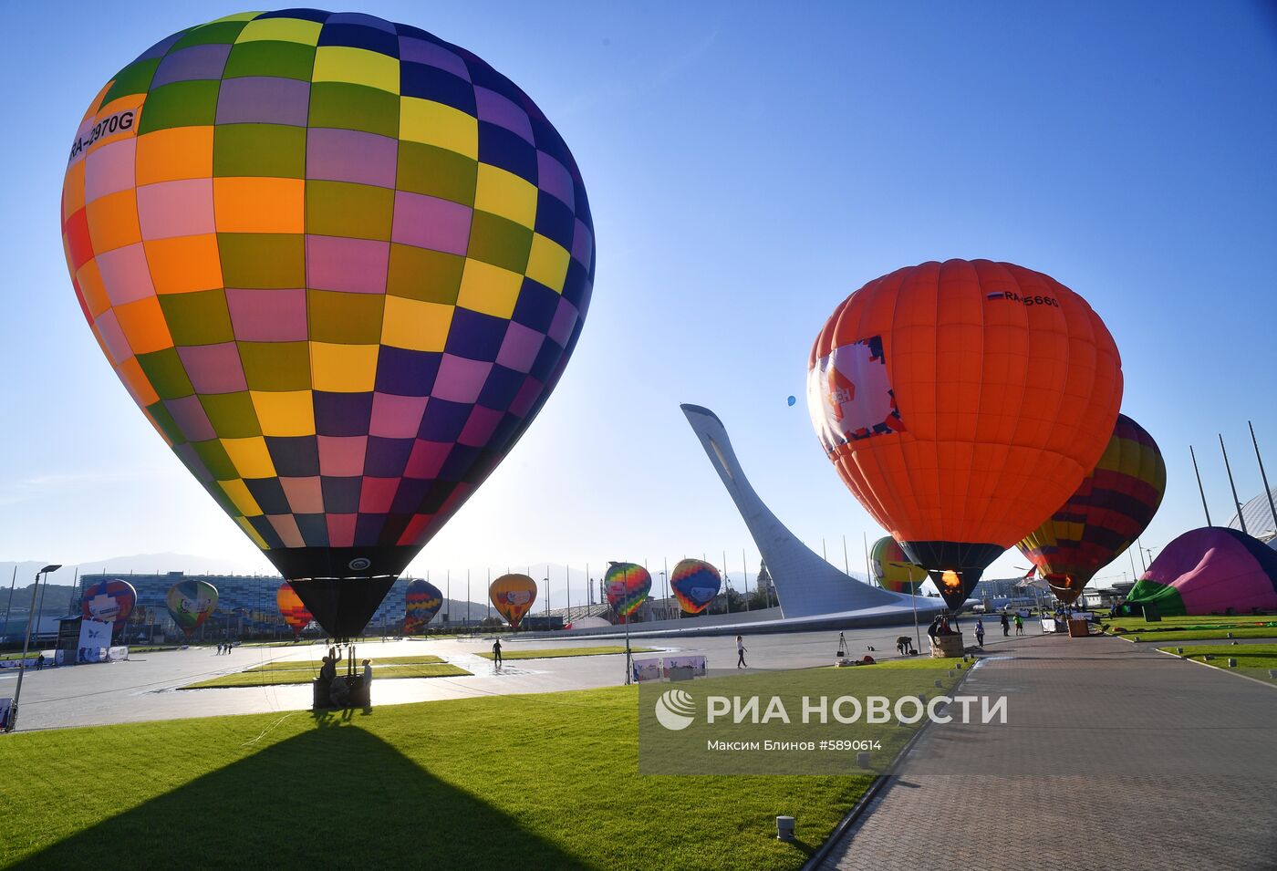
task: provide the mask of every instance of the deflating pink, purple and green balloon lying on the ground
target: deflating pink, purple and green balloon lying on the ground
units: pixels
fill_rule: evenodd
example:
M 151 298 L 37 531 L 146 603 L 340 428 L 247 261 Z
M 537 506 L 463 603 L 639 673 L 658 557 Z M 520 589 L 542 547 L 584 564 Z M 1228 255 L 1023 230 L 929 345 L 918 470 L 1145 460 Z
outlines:
M 1126 604 L 1165 616 L 1277 610 L 1277 552 L 1226 526 L 1189 530 L 1157 554 Z

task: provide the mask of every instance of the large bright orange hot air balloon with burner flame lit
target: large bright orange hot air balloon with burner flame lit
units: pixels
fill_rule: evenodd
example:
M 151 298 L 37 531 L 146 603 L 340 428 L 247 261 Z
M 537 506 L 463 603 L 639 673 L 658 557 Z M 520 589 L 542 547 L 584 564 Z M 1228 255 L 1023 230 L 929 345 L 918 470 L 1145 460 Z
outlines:
M 1084 299 L 1013 263 L 896 269 L 808 360 L 812 424 L 861 504 L 958 608 L 1103 455 L 1121 359 Z

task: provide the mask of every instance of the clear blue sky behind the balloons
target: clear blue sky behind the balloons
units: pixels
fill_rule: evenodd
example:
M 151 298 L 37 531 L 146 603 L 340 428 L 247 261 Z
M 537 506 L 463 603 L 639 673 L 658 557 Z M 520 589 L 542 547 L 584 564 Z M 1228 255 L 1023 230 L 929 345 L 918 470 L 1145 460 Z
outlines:
M 724 549 L 738 570 L 742 548 L 752 570 L 679 402 L 715 410 L 756 489 L 842 564 L 843 535 L 881 533 L 811 430 L 807 352 L 848 292 L 949 257 L 1041 269 L 1105 318 L 1124 411 L 1167 460 L 1145 545 L 1203 522 L 1189 444 L 1216 522 L 1231 515 L 1217 433 L 1243 499 L 1260 489 L 1248 419 L 1277 479 L 1277 26 L 1263 4 L 349 6 L 520 83 L 576 155 L 598 235 L 558 391 L 414 571 Z M 3 559 L 166 550 L 267 566 L 102 359 L 57 225 L 66 148 L 101 84 L 231 11 L 5 14 Z M 1015 564 L 1011 552 L 992 573 Z M 1122 571 L 1126 557 L 1099 575 Z

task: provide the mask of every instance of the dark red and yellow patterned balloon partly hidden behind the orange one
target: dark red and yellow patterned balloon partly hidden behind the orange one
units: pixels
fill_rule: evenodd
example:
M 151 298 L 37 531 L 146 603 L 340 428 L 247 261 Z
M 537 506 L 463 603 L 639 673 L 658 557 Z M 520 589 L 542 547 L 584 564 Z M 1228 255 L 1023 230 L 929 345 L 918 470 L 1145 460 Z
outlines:
M 1166 462 L 1153 437 L 1124 414 L 1105 455 L 1069 501 L 1016 544 L 1065 604 L 1139 538 L 1162 504 Z

